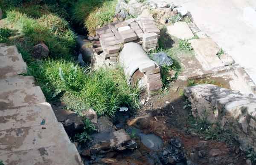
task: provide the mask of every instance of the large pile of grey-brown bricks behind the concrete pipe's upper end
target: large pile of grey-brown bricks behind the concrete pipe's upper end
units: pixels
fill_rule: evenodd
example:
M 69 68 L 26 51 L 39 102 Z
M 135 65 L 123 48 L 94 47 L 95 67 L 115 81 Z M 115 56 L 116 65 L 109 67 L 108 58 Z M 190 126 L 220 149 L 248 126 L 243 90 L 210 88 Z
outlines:
M 143 43 L 143 35 L 154 33 L 156 36 L 160 34 L 154 20 L 149 20 L 147 17 L 137 19 L 129 19 L 123 22 L 111 23 L 96 30 L 96 36 L 99 41 L 93 42 L 93 50 L 100 59 L 105 59 L 109 65 L 116 65 L 119 51 L 125 43 L 135 42 Z M 155 37 L 155 35 L 154 35 Z M 157 37 L 154 40 L 149 40 L 145 37 L 143 48 L 146 51 L 157 47 Z

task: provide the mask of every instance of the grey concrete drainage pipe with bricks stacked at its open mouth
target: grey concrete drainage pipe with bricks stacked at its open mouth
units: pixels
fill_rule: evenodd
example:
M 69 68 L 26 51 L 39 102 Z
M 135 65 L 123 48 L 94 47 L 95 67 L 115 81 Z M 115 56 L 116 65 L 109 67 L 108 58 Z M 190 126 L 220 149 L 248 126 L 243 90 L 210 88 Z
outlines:
M 147 88 L 149 96 L 161 91 L 163 83 L 160 68 L 139 44 L 126 43 L 119 54 L 119 64 L 129 84 L 138 83 L 141 88 Z

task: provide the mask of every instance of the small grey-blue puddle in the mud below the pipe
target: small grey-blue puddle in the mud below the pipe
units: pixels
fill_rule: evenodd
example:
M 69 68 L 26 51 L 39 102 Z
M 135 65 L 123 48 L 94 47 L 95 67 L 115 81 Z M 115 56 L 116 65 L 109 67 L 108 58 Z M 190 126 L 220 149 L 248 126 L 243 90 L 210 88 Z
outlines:
M 128 128 L 126 131 L 131 136 L 140 137 L 143 145 L 145 145 L 145 147 L 153 151 L 159 151 L 160 149 L 163 148 L 163 139 L 161 139 L 159 136 L 155 134 L 144 134 L 143 131 L 132 127 Z

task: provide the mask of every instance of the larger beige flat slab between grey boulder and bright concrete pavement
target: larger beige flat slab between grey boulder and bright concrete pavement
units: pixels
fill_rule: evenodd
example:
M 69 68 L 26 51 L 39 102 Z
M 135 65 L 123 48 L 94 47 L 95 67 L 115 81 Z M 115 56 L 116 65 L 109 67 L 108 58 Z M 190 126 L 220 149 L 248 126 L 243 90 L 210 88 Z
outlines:
M 190 43 L 195 51 L 195 57 L 202 64 L 205 70 L 224 66 L 216 55 L 220 48 L 211 39 L 201 38 L 198 40 L 190 40 Z

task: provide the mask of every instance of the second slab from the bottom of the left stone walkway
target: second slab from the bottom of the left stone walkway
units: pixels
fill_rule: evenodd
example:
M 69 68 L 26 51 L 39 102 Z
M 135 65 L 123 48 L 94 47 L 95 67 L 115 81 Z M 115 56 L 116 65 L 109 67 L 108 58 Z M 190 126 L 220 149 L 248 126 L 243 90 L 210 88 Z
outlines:
M 0 131 L 0 155 L 61 143 L 70 143 L 70 139 L 59 122 Z

